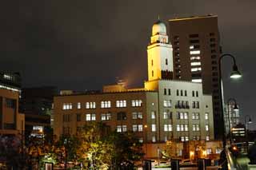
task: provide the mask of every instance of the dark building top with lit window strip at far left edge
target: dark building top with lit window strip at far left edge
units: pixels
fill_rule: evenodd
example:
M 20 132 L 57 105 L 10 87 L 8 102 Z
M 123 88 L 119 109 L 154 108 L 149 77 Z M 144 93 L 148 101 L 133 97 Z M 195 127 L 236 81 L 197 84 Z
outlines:
M 22 78 L 20 73 L 0 72 L 0 89 L 9 89 L 21 93 Z

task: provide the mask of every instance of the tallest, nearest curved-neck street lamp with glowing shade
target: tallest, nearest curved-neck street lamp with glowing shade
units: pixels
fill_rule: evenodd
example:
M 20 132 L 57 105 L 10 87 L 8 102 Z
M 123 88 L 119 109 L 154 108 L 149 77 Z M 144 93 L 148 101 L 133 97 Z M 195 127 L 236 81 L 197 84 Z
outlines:
M 233 55 L 230 53 L 223 53 L 221 57 L 218 58 L 218 72 L 219 72 L 219 79 L 218 79 L 218 85 L 219 85 L 219 94 L 220 94 L 220 101 L 221 101 L 221 123 L 222 123 L 222 142 L 223 142 L 223 148 L 226 148 L 226 136 L 225 136 L 225 122 L 224 122 L 224 110 L 223 110 L 223 89 L 222 89 L 222 58 L 223 57 L 231 57 L 233 60 L 233 70 L 230 73 L 230 78 L 240 78 L 242 77 L 242 74 L 238 71 L 238 66 L 236 65 L 236 61 Z

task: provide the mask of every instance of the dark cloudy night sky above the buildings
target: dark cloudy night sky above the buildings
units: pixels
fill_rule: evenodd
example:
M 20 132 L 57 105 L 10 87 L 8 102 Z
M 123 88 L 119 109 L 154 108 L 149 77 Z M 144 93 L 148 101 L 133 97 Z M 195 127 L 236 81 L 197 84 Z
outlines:
M 171 18 L 216 14 L 223 52 L 234 54 L 243 74 L 230 81 L 231 61 L 224 60 L 226 99 L 236 98 L 255 124 L 255 9 L 255 0 L 2 1 L 0 68 L 20 72 L 23 87 L 102 89 L 115 77 L 142 86 L 158 15 L 167 26 Z

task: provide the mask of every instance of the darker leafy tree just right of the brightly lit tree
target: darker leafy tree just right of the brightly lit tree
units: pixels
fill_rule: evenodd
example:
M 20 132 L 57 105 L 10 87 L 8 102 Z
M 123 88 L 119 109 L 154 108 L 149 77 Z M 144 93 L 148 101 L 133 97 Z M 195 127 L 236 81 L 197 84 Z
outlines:
M 136 161 L 142 159 L 142 143 L 134 132 L 112 132 L 109 140 L 114 144 L 112 168 L 133 169 Z

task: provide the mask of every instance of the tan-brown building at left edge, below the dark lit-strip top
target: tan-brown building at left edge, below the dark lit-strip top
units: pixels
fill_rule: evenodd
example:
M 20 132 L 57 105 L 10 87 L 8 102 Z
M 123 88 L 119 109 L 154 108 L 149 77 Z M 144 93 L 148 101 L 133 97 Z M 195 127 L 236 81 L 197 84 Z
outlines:
M 0 89 L 0 136 L 22 137 L 25 131 L 24 114 L 18 113 L 18 92 Z

